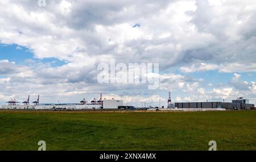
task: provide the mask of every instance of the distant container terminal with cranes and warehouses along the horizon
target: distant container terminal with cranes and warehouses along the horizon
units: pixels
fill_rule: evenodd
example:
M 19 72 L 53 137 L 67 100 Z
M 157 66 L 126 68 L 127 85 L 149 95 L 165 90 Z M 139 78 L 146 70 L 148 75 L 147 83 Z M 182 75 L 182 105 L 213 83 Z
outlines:
M 82 99 L 79 103 L 40 103 L 40 95 L 38 95 L 36 101 L 30 105 L 30 95 L 24 102 L 19 102 L 16 99 L 11 99 L 6 102 L 6 105 L 1 105 L 0 109 L 7 110 L 162 110 L 162 111 L 225 111 L 225 110 L 254 110 L 254 104 L 249 103 L 249 99 L 238 97 L 232 100 L 232 102 L 175 102 L 172 103 L 171 92 L 169 92 L 167 99 L 167 107 L 161 106 L 159 101 L 159 107 L 152 107 L 151 104 L 142 102 L 141 107 L 124 105 L 121 99 L 106 99 L 100 98 L 97 100 L 93 98 L 88 102 L 86 99 Z M 20 104 L 21 103 L 21 104 Z

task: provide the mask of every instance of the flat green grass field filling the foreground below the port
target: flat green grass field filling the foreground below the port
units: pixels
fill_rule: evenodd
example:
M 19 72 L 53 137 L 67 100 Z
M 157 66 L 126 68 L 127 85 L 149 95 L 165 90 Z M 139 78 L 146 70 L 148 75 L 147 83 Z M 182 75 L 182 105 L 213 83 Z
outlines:
M 256 111 L 0 111 L 0 150 L 256 150 Z

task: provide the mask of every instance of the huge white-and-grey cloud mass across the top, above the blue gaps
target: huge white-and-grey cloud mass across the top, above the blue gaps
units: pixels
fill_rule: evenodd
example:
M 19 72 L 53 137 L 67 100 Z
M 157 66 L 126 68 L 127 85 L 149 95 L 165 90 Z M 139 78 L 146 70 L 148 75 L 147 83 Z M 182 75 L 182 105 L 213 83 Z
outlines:
M 242 64 L 256 49 L 251 35 L 256 12 L 249 0 L 49 1 L 43 9 L 25 1 L 0 5 L 6 6 L 1 42 L 28 47 L 39 59 L 76 64 L 108 56 L 127 63 L 156 61 L 164 69 L 196 60 Z M 134 22 L 143 26 L 132 28 Z

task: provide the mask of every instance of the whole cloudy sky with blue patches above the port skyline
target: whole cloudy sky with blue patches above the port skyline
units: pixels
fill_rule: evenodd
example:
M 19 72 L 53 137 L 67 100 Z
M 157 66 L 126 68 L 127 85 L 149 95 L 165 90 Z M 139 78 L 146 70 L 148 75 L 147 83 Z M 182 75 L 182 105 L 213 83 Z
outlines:
M 256 103 L 255 0 L 0 1 L 0 104 Z M 101 63 L 158 63 L 159 88 L 100 84 Z

